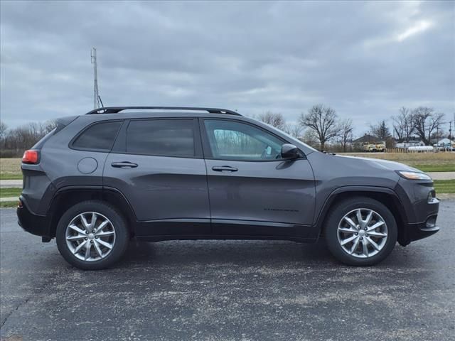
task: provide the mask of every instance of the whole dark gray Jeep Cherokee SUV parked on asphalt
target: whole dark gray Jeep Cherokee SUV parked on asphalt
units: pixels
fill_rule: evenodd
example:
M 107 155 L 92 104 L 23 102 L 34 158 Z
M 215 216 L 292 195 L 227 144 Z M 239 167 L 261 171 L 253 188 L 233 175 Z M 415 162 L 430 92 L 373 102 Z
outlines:
M 58 119 L 22 160 L 18 222 L 80 269 L 129 239 L 326 240 L 377 264 L 439 230 L 432 179 L 401 163 L 321 153 L 226 109 L 108 107 Z

